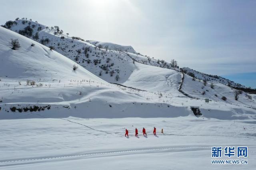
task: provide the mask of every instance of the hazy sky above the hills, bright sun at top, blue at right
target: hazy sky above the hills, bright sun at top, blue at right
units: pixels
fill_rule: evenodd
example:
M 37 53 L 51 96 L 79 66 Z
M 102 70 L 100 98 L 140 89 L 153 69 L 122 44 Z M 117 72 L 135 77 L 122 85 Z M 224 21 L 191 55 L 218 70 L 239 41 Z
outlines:
M 0 23 L 32 18 L 256 88 L 255 9 L 255 0 L 8 0 Z

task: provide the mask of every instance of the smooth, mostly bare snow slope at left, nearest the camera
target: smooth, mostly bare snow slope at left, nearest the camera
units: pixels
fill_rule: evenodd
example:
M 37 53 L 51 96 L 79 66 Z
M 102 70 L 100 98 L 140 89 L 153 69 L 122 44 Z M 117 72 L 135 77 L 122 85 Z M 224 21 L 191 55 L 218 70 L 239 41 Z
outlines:
M 10 39 L 18 39 L 21 47 L 11 49 Z M 12 109 L 26 117 L 29 115 L 26 111 L 33 106 L 52 106 L 51 110 L 45 111 L 49 117 L 70 114 L 80 117 L 131 117 L 140 113 L 143 117 L 141 110 L 145 107 L 161 110 L 156 106 L 158 102 L 150 102 L 129 90 L 126 92 L 126 89 L 105 82 L 79 65 L 74 70 L 74 61 L 3 27 L 0 27 L 0 61 L 0 112 L 4 113 L 1 118 L 17 117 L 10 114 Z M 129 111 L 120 114 L 132 102 L 147 103 L 148 106 L 136 106 L 134 103 L 134 108 L 129 108 L 134 109 L 132 114 Z M 161 116 L 167 113 L 167 104 L 165 106 L 160 111 Z M 75 113 L 74 109 L 77 110 Z M 31 115 L 34 116 L 38 115 Z

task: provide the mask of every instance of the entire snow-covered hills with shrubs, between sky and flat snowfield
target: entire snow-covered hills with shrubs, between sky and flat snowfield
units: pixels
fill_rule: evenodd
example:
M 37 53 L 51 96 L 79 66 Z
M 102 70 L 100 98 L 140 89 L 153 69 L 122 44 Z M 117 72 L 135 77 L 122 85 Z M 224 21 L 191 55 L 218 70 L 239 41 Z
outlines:
M 110 44 L 110 49 L 104 49 L 104 43 L 100 48 L 96 46 L 99 42 L 64 35 L 57 26 L 17 20 L 4 27 L 12 30 L 1 27 L 0 98 L 4 112 L 20 104 L 24 106 L 17 109 L 24 110 L 37 103 L 61 108 L 62 116 L 72 115 L 70 108 L 76 109 L 78 117 L 176 117 L 191 114 L 191 106 L 222 111 L 224 107 L 228 117 L 248 109 L 254 113 L 248 108 L 255 107 L 254 98 L 245 92 L 235 100 L 235 89 L 214 80 L 203 82 L 199 76 L 192 78 L 165 61 L 114 50 Z M 20 40 L 20 49 L 10 48 L 11 38 Z M 78 69 L 73 70 L 76 65 Z M 205 98 L 212 104 L 205 103 Z M 234 111 L 234 106 L 243 111 Z M 90 113 L 83 113 L 84 109 Z M 216 117 L 207 112 L 204 116 Z

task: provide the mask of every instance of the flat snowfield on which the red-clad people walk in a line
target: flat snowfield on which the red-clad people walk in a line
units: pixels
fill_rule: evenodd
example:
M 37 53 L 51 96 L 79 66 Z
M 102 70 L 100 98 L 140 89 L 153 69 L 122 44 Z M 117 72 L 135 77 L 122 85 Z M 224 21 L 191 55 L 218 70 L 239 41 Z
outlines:
M 42 114 L 42 113 L 40 113 Z M 157 136 L 152 134 L 157 128 Z M 138 138 L 134 129 L 138 128 Z M 146 128 L 147 137 L 141 133 Z M 255 120 L 204 117 L 1 120 L 0 169 L 254 169 Z M 124 137 L 125 128 L 129 138 Z M 164 134 L 160 129 L 164 129 Z M 245 129 L 244 129 L 245 128 Z M 211 147 L 248 146 L 247 165 L 212 165 Z M 239 158 L 237 158 L 239 159 Z

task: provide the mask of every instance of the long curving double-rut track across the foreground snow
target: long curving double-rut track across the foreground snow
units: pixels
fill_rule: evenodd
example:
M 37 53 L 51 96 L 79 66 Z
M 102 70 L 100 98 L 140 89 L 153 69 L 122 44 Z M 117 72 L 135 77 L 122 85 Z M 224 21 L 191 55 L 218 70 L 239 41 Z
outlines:
M 146 148 L 146 149 L 132 149 L 132 150 L 112 150 L 104 152 L 88 152 L 81 154 L 67 154 L 59 156 L 46 156 L 37 158 L 26 158 L 26 159 L 13 159 L 13 160 L 0 160 L 0 167 L 22 165 L 22 164 L 36 164 L 40 162 L 58 161 L 63 159 L 74 160 L 74 159 L 85 159 L 92 156 L 104 157 L 104 156 L 119 156 L 127 154 L 145 154 L 155 152 L 184 152 L 184 151 L 198 151 L 206 150 L 211 147 L 162 147 L 162 148 Z

